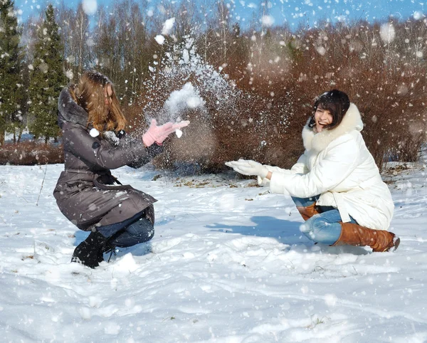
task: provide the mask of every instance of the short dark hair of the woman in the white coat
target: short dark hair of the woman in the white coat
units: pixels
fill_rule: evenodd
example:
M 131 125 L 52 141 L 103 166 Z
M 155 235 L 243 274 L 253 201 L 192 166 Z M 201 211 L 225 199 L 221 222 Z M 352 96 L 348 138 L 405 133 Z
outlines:
M 317 107 L 331 112 L 332 122 L 330 125 L 325 126 L 325 129 L 331 130 L 342 121 L 342 118 L 350 107 L 350 100 L 348 95 L 341 90 L 330 90 L 319 95 L 315 99 L 315 105 L 313 105 L 312 118 L 308 123 L 309 127 L 316 125 L 315 112 Z

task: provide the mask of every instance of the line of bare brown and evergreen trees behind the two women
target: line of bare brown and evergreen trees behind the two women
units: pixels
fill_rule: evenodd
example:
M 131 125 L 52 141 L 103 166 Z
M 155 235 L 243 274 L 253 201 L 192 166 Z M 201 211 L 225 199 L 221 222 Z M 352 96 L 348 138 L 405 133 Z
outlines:
M 144 127 L 144 115 L 160 112 L 186 82 L 198 87 L 206 106 L 184 115 L 206 130 L 188 130 L 163 164 L 186 159 L 221 169 L 223 160 L 245 157 L 289 167 L 315 96 L 332 88 L 359 107 L 379 167 L 417 159 L 426 141 L 426 16 L 291 29 L 266 24 L 270 9 L 260 6 L 242 28 L 224 0 L 160 1 L 158 8 L 153 15 L 149 1 L 120 0 L 91 19 L 83 4 L 70 9 L 63 1 L 19 25 L 14 1 L 1 0 L 0 144 L 5 132 L 19 141 L 23 127 L 45 142 L 59 137 L 60 89 L 96 69 L 115 83 L 131 130 Z M 171 18 L 172 31 L 159 44 Z M 168 71 L 181 68 L 190 38 L 195 56 L 228 83 L 227 101 L 206 89 L 197 70 Z M 196 149 L 190 138 L 209 146 Z

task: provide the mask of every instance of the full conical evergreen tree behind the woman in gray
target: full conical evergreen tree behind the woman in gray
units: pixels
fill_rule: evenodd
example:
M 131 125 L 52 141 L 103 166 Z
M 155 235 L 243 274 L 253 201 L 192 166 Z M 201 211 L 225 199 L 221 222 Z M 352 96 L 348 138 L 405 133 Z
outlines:
M 53 6 L 48 5 L 45 18 L 38 27 L 34 61 L 30 73 L 30 107 L 33 117 L 30 132 L 35 137 L 57 138 L 58 96 L 67 83 L 63 72 L 63 46 L 58 33 Z

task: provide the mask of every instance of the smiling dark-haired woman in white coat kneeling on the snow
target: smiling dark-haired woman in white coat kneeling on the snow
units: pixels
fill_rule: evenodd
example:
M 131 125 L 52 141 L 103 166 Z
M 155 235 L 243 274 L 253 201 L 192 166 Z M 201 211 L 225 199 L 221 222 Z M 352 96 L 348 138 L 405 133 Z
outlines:
M 272 193 L 292 196 L 305 220 L 301 231 L 312 241 L 396 250 L 400 240 L 387 231 L 394 204 L 362 128 L 356 105 L 347 94 L 331 90 L 317 97 L 302 130 L 305 152 L 291 169 L 244 159 L 226 165 L 258 176 Z

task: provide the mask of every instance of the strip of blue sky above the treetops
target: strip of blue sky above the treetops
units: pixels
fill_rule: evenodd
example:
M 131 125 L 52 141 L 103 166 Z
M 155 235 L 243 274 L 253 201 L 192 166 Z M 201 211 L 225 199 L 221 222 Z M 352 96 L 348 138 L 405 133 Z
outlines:
M 110 6 L 114 0 L 85 0 L 97 1 L 97 5 Z M 171 0 L 175 1 L 175 0 Z M 193 0 L 197 4 L 197 0 Z M 268 6 L 269 15 L 274 23 L 281 25 L 284 22 L 291 27 L 296 27 L 301 21 L 315 25 L 321 19 L 330 21 L 349 21 L 367 19 L 368 21 L 386 19 L 394 16 L 398 19 L 415 17 L 423 18 L 427 14 L 426 2 L 415 0 L 226 0 L 226 3 L 235 6 L 234 21 L 240 21 L 242 26 L 251 21 L 253 11 L 259 11 L 261 4 Z M 58 1 L 53 0 L 56 4 Z M 68 0 L 66 4 L 70 7 L 77 6 L 78 0 Z M 150 8 L 156 13 L 159 1 L 150 1 Z M 25 20 L 28 16 L 37 14 L 46 9 L 46 0 L 15 0 L 16 9 L 22 12 L 21 18 Z M 271 21 L 270 21 L 271 23 Z

